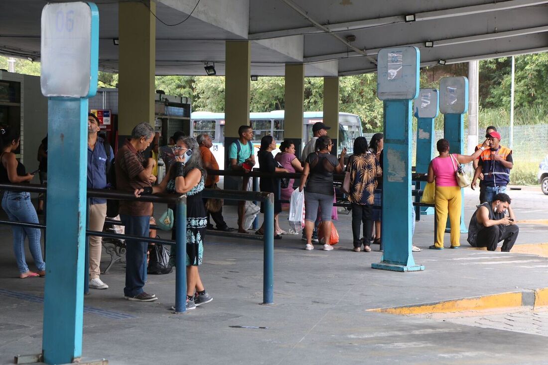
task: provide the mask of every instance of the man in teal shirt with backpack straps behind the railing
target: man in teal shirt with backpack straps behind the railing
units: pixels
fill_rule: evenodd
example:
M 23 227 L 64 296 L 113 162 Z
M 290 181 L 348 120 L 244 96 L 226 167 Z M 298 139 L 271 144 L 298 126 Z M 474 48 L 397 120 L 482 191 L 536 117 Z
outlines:
M 249 172 L 255 165 L 255 154 L 253 150 L 253 129 L 249 125 L 242 125 L 238 128 L 238 140 L 232 142 L 229 150 L 230 169 L 235 171 Z M 242 178 L 242 190 L 247 190 L 249 177 Z M 245 201 L 238 202 L 238 232 L 249 233 L 243 227 Z

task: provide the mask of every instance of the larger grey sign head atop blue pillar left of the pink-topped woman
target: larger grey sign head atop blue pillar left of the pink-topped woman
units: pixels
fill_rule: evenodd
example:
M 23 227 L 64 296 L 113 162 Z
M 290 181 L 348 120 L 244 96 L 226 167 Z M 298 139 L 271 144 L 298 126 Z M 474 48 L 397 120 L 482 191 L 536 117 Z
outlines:
M 418 48 L 383 48 L 379 51 L 377 62 L 379 100 L 410 100 L 417 97 L 420 65 Z

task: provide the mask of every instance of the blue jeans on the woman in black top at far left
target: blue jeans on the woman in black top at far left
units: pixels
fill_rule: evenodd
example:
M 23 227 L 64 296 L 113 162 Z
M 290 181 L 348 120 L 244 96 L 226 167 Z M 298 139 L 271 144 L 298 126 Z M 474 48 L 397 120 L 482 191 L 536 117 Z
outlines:
M 39 223 L 35 207 L 31 203 L 31 194 L 22 192 L 4 192 L 2 208 L 8 213 L 8 218 L 13 222 Z M 17 266 L 21 274 L 28 271 L 25 260 L 25 236 L 28 237 L 28 249 L 35 260 L 38 271 L 45 270 L 40 247 L 40 230 L 30 227 L 12 226 L 13 252 L 17 260 Z

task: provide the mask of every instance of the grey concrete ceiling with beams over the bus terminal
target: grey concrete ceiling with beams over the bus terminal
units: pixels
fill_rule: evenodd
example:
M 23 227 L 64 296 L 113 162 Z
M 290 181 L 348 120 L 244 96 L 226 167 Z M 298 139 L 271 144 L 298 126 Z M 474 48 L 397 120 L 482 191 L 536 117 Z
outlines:
M 96 3 L 99 65 L 117 71 L 118 1 Z M 175 24 L 196 3 L 156 0 L 156 16 Z M 39 60 L 45 4 L 0 0 L 0 54 Z M 433 66 L 548 50 L 548 0 L 200 0 L 178 26 L 156 21 L 156 73 L 204 75 L 204 62 L 214 61 L 222 75 L 226 39 L 252 40 L 259 76 L 283 76 L 295 62 L 305 63 L 306 76 L 374 72 L 378 50 L 401 45 L 418 47 L 421 65 Z

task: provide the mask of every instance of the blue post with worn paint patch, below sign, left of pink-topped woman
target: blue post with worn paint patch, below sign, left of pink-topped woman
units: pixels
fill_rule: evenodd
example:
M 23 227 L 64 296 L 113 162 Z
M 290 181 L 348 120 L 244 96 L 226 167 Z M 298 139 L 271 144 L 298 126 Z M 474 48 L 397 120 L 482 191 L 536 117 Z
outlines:
M 384 101 L 384 254 L 374 269 L 420 271 L 411 251 L 411 100 Z

